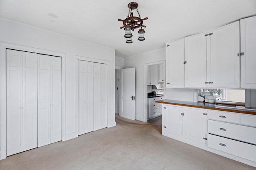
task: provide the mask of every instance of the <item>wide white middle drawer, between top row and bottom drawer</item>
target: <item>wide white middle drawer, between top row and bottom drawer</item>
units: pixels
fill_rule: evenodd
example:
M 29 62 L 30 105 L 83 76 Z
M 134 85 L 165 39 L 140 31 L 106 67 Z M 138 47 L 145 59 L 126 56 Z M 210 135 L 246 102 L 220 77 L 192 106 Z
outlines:
M 208 133 L 256 144 L 255 127 L 208 120 Z

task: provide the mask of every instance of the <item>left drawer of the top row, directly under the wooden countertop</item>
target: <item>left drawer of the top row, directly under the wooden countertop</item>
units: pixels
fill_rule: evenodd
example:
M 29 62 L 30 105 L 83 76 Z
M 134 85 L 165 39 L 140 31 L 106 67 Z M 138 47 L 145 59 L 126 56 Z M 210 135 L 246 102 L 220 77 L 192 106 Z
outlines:
M 208 110 L 208 119 L 240 124 L 240 114 L 226 111 Z

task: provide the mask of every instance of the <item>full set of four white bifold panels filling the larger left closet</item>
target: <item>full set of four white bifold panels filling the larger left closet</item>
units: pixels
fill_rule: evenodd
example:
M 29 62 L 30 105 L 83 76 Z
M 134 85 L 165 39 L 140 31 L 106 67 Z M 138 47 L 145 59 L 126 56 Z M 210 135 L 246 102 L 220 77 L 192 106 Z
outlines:
M 61 57 L 6 50 L 7 156 L 61 141 Z

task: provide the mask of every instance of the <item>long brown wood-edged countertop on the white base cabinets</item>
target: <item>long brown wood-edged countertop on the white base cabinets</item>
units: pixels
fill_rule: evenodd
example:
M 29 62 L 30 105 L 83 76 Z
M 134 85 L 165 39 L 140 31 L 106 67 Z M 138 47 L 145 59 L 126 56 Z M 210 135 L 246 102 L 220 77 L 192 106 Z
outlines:
M 237 109 L 237 108 L 216 108 L 215 104 L 212 103 L 204 103 L 204 102 L 185 102 L 185 101 L 179 101 L 179 100 L 158 100 L 156 103 L 162 103 L 162 104 L 172 104 L 177 106 L 187 106 L 187 107 L 197 107 L 202 109 L 212 109 L 212 110 L 220 110 L 220 111 L 230 111 L 235 113 L 245 113 L 245 114 L 251 114 L 256 115 L 256 111 L 252 110 L 246 110 L 246 109 Z M 252 108 L 255 109 L 255 108 Z

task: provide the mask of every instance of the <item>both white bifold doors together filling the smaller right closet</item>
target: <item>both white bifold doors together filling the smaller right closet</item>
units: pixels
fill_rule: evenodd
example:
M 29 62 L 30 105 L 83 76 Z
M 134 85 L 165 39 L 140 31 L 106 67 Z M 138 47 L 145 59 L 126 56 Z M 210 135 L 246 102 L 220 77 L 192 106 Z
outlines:
M 78 60 L 78 135 L 107 127 L 107 65 Z

